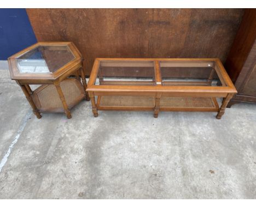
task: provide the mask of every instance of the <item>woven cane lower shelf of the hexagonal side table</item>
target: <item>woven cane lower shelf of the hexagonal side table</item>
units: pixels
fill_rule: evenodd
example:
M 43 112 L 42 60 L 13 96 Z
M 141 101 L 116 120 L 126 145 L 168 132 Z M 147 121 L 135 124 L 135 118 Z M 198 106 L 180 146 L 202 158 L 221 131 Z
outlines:
M 60 83 L 66 98 L 68 108 L 71 109 L 84 99 L 82 84 L 75 78 L 69 78 Z M 32 99 L 39 112 L 63 113 L 63 105 L 53 84 L 43 84 L 34 90 Z

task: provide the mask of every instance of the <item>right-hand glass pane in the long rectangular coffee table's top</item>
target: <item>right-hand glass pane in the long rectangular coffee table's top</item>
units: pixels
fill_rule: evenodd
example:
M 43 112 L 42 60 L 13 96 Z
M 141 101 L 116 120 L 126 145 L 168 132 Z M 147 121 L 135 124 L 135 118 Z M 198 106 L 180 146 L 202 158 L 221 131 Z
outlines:
M 166 86 L 223 86 L 215 62 L 169 61 L 160 62 L 162 85 Z

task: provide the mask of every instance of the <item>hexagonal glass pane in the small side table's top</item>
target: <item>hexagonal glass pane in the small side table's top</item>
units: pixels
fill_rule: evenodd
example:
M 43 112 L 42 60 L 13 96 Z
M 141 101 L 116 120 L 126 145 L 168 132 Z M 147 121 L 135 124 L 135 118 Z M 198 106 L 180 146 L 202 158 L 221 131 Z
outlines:
M 20 73 L 49 74 L 75 57 L 68 46 L 38 46 L 17 58 Z

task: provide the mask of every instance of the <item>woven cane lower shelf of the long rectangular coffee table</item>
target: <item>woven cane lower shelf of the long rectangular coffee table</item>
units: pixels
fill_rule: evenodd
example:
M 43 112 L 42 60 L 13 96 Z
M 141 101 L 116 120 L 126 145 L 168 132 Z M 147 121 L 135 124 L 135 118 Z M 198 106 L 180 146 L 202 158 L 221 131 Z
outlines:
M 147 96 L 98 96 L 99 110 L 144 110 L 155 107 L 155 98 Z M 161 97 L 160 111 L 218 111 L 218 103 L 212 97 Z

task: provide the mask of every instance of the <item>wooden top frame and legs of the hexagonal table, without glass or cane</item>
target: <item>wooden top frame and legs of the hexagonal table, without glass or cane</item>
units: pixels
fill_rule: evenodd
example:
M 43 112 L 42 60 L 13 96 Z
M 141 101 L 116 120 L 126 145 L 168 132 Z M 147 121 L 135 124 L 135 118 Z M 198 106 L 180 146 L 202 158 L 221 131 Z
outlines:
M 53 74 L 21 74 L 19 73 L 18 66 L 16 64 L 16 58 L 20 57 L 22 54 L 36 48 L 37 46 L 68 46 L 71 52 L 74 55 L 74 59 L 62 66 L 62 68 L 58 69 Z M 60 87 L 60 83 L 65 81 L 65 79 L 71 75 L 74 75 L 75 78 L 83 84 L 84 91 L 84 99 L 90 100 L 88 93 L 85 91 L 87 84 L 85 79 L 85 72 L 83 66 L 83 57 L 82 54 L 78 51 L 77 47 L 73 44 L 73 42 L 38 42 L 30 47 L 25 48 L 19 53 L 14 54 L 13 56 L 8 58 L 9 70 L 11 79 L 15 80 L 18 83 L 26 96 L 27 101 L 30 103 L 33 113 L 36 115 L 38 119 L 42 118 L 42 115 L 39 112 L 39 109 L 36 107 L 32 99 L 32 95 L 34 91 L 31 90 L 30 84 L 54 84 L 57 93 L 59 94 L 60 100 L 63 105 L 63 110 L 67 115 L 67 118 L 71 118 L 71 112 L 68 108 L 65 96 Z

